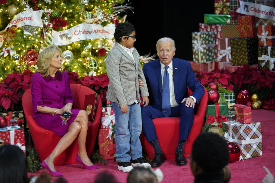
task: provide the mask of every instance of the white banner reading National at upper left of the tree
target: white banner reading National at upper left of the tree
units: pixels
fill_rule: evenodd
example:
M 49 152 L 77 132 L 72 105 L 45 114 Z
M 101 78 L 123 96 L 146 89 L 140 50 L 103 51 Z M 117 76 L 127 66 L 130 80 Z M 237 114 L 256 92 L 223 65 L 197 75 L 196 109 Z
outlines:
M 5 28 L 7 30 L 8 27 L 16 25 L 16 27 L 22 27 L 25 25 L 32 26 L 43 26 L 41 17 L 44 11 L 22 11 L 18 13 Z M 0 35 L 0 47 L 3 45 L 4 36 Z

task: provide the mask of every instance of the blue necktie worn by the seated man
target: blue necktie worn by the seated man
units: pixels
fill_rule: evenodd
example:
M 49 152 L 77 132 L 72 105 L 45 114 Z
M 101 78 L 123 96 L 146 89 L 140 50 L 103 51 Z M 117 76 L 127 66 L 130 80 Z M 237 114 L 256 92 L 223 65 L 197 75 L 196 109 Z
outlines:
M 169 67 L 168 65 L 164 67 L 165 71 L 163 74 L 163 84 L 162 84 L 162 114 L 165 117 L 168 117 L 171 114 L 169 74 L 167 71 L 168 67 Z

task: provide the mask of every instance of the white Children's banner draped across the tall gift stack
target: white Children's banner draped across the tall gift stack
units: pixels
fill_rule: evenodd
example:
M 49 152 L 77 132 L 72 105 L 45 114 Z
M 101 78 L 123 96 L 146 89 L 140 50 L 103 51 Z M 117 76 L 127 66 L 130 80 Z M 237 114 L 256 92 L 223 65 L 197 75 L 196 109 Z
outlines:
M 245 15 L 254 15 L 262 19 L 270 19 L 275 21 L 275 8 L 256 3 L 239 1 L 240 7 L 236 10 L 237 13 Z

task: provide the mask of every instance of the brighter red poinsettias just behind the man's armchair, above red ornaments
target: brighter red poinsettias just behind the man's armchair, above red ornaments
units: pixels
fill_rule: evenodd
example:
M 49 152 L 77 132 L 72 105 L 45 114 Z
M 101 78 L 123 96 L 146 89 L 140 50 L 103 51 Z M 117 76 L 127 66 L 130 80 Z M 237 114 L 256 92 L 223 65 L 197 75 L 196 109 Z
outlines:
M 226 89 L 233 91 L 233 85 L 230 84 L 229 78 L 232 76 L 229 75 L 228 73 L 220 73 L 220 72 L 199 72 L 195 73 L 197 79 L 201 82 L 202 85 L 205 87 L 208 85 L 210 82 L 217 83 L 221 85 L 222 87 L 226 87 Z

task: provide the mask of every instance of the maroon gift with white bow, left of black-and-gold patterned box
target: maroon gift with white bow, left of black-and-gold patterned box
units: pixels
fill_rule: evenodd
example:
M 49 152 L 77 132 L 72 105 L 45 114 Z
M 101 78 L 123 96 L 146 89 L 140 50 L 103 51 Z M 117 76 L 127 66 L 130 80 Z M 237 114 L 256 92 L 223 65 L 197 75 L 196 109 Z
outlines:
M 223 38 L 220 39 L 220 54 L 219 54 L 219 60 L 220 61 L 226 61 L 231 62 L 231 45 L 230 45 L 230 39 L 229 38 Z

